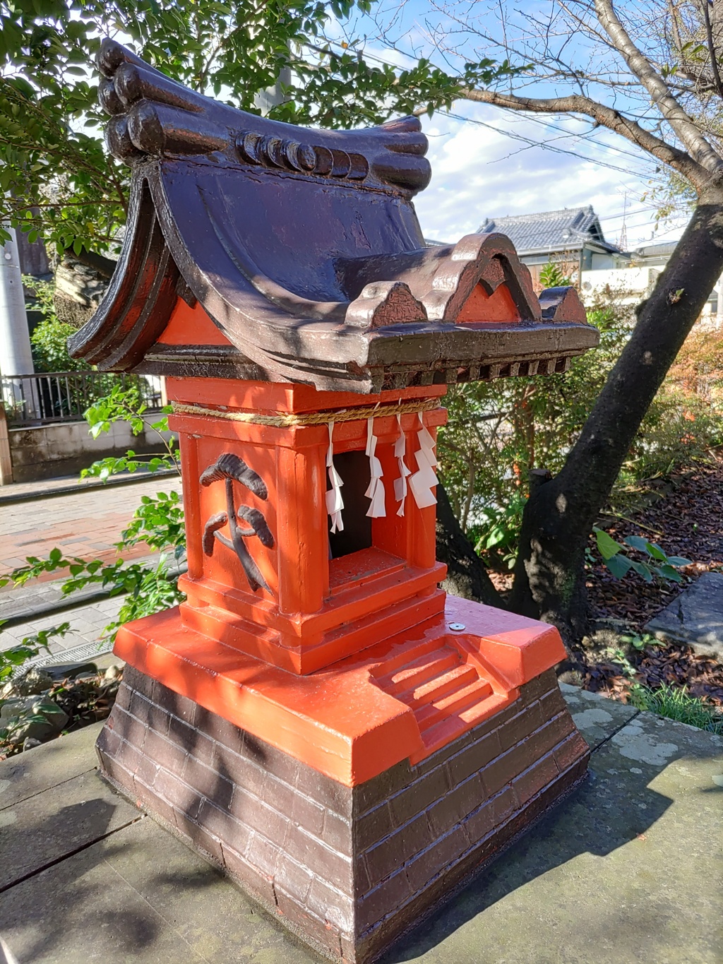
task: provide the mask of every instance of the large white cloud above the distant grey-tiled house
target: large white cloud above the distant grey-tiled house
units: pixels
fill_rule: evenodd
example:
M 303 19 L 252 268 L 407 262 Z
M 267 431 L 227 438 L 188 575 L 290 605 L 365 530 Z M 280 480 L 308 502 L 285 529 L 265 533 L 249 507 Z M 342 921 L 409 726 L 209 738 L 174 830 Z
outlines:
M 549 126 L 485 105 L 472 105 L 466 114 L 490 126 L 440 114 L 423 120 L 433 174 L 430 186 L 416 197 L 415 208 L 426 237 L 452 242 L 477 230 L 486 217 L 584 204 L 593 205 L 612 243 L 620 237 L 626 207 L 629 248 L 680 235 L 678 225 L 654 234 L 654 206 L 641 201 L 655 176 L 654 165 L 621 139 L 610 135 L 597 142 L 582 141 L 575 135 L 589 125 L 574 118 L 556 118 Z M 506 131 L 574 150 L 590 160 L 528 147 Z

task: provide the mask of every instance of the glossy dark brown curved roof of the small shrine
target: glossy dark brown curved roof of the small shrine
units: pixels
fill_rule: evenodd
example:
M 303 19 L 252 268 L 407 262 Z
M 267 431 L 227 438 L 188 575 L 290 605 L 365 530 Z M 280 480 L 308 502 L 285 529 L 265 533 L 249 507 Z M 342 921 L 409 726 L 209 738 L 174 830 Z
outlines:
M 311 130 L 196 94 L 113 40 L 98 66 L 132 191 L 118 268 L 73 357 L 370 393 L 560 371 L 597 344 L 576 293 L 541 305 L 503 235 L 424 246 L 417 118 Z M 223 337 L 165 342 L 179 298 Z

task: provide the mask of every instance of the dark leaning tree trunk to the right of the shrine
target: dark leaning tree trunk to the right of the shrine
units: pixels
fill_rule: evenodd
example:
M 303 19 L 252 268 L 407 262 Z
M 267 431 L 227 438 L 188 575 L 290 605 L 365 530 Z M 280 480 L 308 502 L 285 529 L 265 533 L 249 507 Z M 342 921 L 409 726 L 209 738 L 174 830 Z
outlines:
M 696 207 L 629 342 L 557 476 L 537 478 L 522 516 L 511 608 L 584 635 L 584 552 L 640 423 L 723 272 L 723 189 Z

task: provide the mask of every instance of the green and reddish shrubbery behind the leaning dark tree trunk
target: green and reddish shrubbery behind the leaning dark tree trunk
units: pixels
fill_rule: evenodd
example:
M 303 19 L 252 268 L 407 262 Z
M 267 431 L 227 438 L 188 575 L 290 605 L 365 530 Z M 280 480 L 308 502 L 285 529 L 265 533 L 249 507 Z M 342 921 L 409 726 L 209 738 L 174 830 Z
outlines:
M 449 389 L 439 437 L 452 508 L 484 562 L 506 571 L 517 550 L 529 469 L 553 474 L 617 361 L 635 322 L 626 292 L 588 309 L 601 343 L 566 374 L 460 384 Z M 630 447 L 611 502 L 629 508 L 641 484 L 689 465 L 723 443 L 723 333 L 696 329 Z

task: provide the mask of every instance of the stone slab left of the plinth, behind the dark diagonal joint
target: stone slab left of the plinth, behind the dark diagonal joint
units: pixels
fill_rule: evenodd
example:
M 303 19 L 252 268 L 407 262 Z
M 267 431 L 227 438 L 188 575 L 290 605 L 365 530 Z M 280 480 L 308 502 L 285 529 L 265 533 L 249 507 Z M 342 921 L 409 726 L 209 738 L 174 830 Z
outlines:
M 0 811 L 0 892 L 140 815 L 94 770 Z

